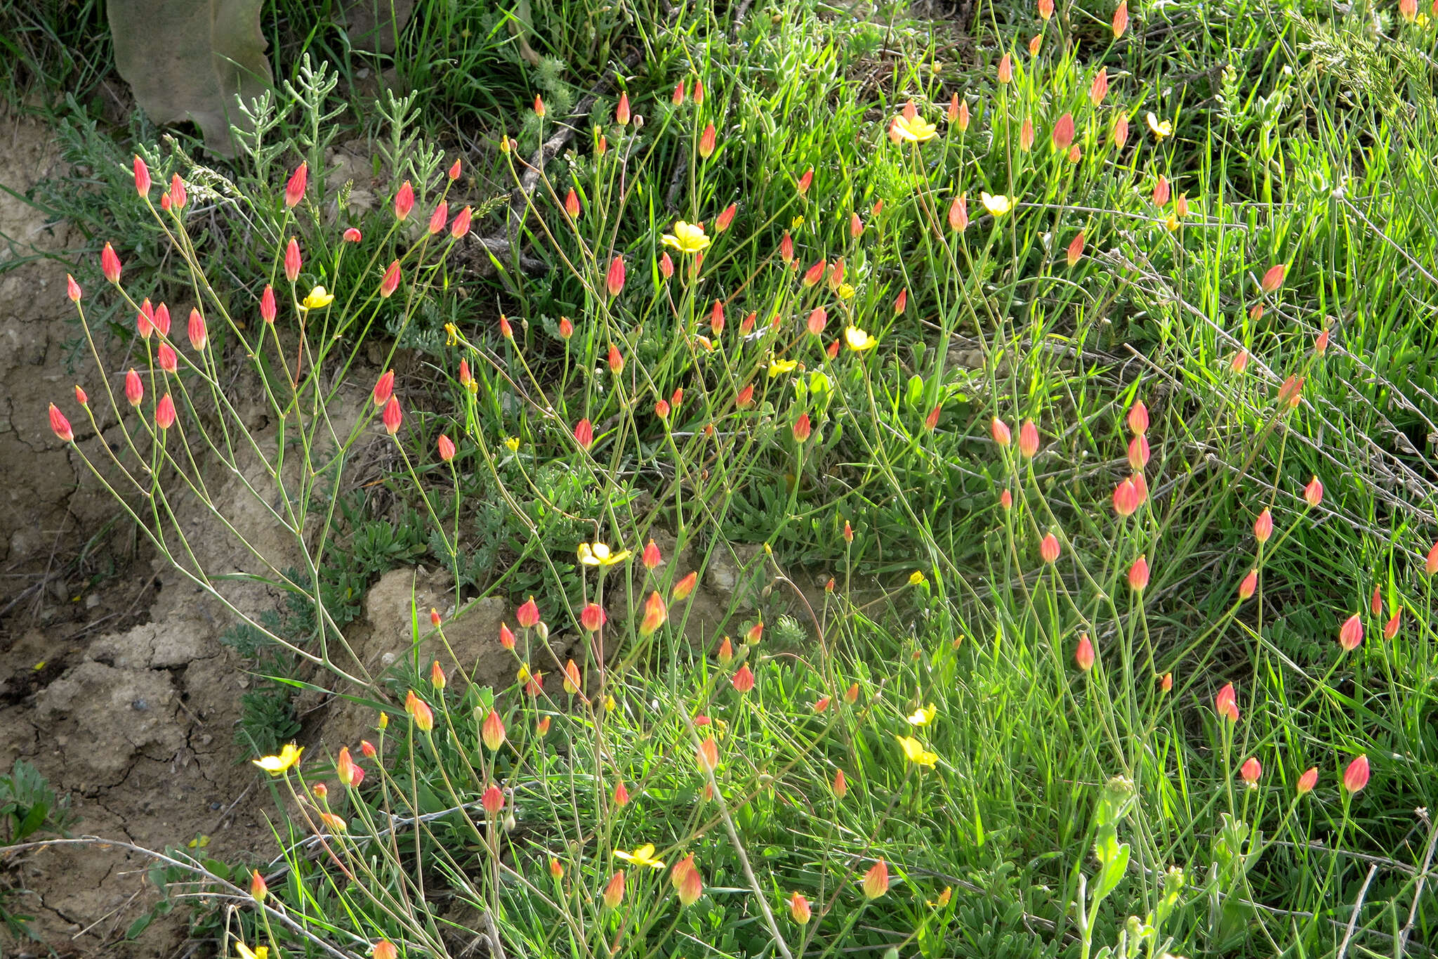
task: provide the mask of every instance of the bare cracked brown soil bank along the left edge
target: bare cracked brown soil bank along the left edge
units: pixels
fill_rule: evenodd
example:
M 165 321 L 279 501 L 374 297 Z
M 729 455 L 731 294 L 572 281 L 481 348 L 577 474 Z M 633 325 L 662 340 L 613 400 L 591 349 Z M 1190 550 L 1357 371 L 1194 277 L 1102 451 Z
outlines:
M 0 184 L 24 194 L 59 164 L 43 124 L 0 106 Z M 73 384 L 95 377 L 83 355 L 68 362 L 79 328 L 65 260 L 85 239 L 7 193 L 0 237 L 0 263 L 27 260 L 0 272 L 0 769 L 37 766 L 69 795 L 75 835 L 157 850 L 207 835 L 209 855 L 267 860 L 270 797 L 234 745 L 247 680 L 217 641 L 229 620 L 49 428 L 47 404 L 73 408 Z M 75 430 L 88 454 L 101 450 L 89 424 Z M 0 887 L 24 889 L 9 906 L 33 916 L 36 936 L 0 930 L 0 956 L 187 953 L 183 904 L 125 939 L 158 900 L 145 867 L 91 847 L 0 860 Z

